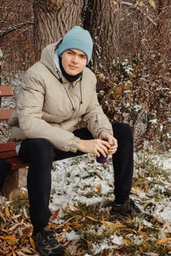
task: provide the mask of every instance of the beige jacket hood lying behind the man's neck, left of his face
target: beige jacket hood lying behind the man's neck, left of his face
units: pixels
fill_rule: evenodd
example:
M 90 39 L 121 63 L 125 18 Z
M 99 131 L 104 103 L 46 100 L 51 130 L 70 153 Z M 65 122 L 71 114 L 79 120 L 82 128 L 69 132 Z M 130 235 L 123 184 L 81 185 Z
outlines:
M 54 42 L 53 44 L 47 45 L 43 50 L 40 57 L 39 62 L 44 64 L 56 78 L 61 77 L 61 69 L 59 67 L 58 56 L 55 55 L 55 50 L 58 48 L 61 39 L 58 42 Z

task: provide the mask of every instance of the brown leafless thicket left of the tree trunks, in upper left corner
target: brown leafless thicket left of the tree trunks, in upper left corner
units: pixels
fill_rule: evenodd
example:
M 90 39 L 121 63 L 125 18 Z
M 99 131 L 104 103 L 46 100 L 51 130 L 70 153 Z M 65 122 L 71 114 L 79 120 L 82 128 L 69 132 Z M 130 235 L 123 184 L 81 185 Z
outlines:
M 34 64 L 32 4 L 32 0 L 0 0 L 0 48 L 4 53 L 1 71 L 5 83 L 17 80 Z

